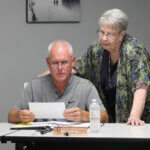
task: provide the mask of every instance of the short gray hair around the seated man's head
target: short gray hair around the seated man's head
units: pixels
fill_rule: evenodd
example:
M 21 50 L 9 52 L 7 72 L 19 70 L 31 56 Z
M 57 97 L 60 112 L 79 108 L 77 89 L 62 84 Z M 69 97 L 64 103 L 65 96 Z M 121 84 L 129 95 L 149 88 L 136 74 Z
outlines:
M 70 56 L 73 56 L 73 48 L 72 48 L 72 45 L 65 41 L 65 40 L 56 40 L 56 41 L 53 41 L 52 43 L 49 44 L 48 46 L 48 56 L 50 57 L 50 53 L 51 53 L 51 50 L 52 50 L 52 46 L 55 45 L 55 44 L 67 44 L 68 47 L 69 47 L 69 53 L 70 53 Z

